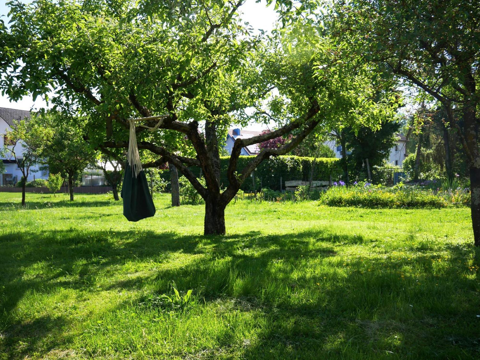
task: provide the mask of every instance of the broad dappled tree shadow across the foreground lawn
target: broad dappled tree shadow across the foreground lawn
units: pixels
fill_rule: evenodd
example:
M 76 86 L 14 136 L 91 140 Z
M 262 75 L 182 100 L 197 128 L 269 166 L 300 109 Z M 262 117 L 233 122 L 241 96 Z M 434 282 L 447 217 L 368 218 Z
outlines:
M 120 279 L 100 290 L 154 284 L 151 292 L 161 295 L 168 293 L 174 281 L 180 290 L 194 289 L 194 294 L 207 302 L 233 300 L 232 311 L 256 309 L 272 324 L 262 331 L 259 341 L 244 348 L 244 358 L 314 359 L 320 349 L 342 356 L 348 347 L 373 349 L 379 356 L 384 356 L 384 348 L 388 348 L 404 356 L 408 351 L 417 351 L 417 356 L 432 357 L 422 354 L 421 348 L 392 348 L 391 341 L 387 341 L 392 333 L 399 333 L 406 344 L 410 341 L 414 346 L 418 339 L 409 333 L 419 326 L 423 328 L 422 340 L 438 349 L 438 357 L 455 355 L 457 350 L 472 354 L 474 349 L 478 351 L 478 334 L 472 332 L 474 324 L 465 316 L 476 312 L 478 304 L 460 301 L 471 299 L 471 293 L 479 289 L 478 281 L 465 276 L 462 267 L 472 249 L 449 247 L 449 266 L 441 277 L 434 271 L 432 253 L 412 255 L 410 263 L 387 255 L 367 263 L 367 259 L 360 258 L 349 263 L 342 258 L 330 260 L 339 245 L 362 245 L 371 240 L 321 229 L 281 236 L 251 231 L 218 237 L 74 229 L 5 234 L 0 236 L 0 247 L 4 249 L 0 263 L 5 264 L 0 269 L 4 286 L 0 289 L 0 323 L 5 324 L 0 327 L 4 335 L 1 341 L 9 355 L 18 358 L 34 349 L 38 351 L 36 344 L 46 338 L 49 341 L 43 347 L 44 353 L 68 344 L 69 339 L 58 331 L 60 325 L 68 326 L 71 321 L 66 315 L 27 324 L 10 320 L 26 292 L 49 294 L 71 288 L 94 293 L 99 290 L 97 276 L 105 271 L 113 274 L 128 261 L 162 264 L 182 253 L 199 256 L 180 268 Z M 477 259 L 479 254 L 477 251 Z M 312 263 L 326 261 L 330 273 L 309 274 Z M 36 264 L 45 264 L 49 270 L 27 276 L 25 270 Z M 408 264 L 421 269 L 421 273 L 417 277 L 402 276 Z M 148 297 L 139 297 L 136 303 L 141 308 L 148 304 Z M 283 321 L 276 321 L 278 318 Z M 426 319 L 430 324 L 424 323 Z M 452 334 L 454 340 L 448 340 L 446 334 L 458 328 L 464 331 Z M 218 345 L 230 347 L 231 340 L 232 336 L 218 338 Z M 21 342 L 28 346 L 19 346 Z

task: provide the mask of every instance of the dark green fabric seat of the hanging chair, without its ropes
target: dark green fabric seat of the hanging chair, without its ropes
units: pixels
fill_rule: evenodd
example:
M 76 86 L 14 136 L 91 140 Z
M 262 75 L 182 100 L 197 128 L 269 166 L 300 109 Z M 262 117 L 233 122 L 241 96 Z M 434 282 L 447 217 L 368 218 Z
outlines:
M 155 215 L 155 205 L 148 189 L 144 171 L 132 176 L 132 168 L 127 165 L 121 188 L 123 215 L 128 221 L 138 221 Z

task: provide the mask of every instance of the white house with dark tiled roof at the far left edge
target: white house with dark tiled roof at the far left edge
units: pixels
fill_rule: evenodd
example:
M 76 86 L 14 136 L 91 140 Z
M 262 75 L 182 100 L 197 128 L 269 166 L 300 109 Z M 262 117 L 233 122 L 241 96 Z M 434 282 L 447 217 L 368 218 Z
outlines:
M 18 110 L 12 108 L 0 108 L 0 149 L 5 146 L 12 148 L 13 144 L 9 144 L 6 138 L 7 131 L 11 131 L 15 127 L 15 123 L 19 120 L 30 118 L 30 112 L 25 110 Z M 23 156 L 23 146 L 21 140 L 15 146 L 17 158 L 21 159 Z M 5 172 L 0 174 L 0 186 L 14 185 L 22 179 L 22 171 L 18 168 L 15 159 L 11 154 L 6 152 L 0 156 L 0 160 L 5 166 Z M 48 179 L 48 170 L 39 170 L 39 166 L 35 165 L 30 168 L 27 181 L 34 179 Z

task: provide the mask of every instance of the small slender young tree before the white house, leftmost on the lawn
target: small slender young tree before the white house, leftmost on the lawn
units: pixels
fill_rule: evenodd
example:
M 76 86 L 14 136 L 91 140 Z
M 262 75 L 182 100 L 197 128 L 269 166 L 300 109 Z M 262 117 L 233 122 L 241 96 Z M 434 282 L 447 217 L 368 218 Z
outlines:
M 7 132 L 11 147 L 5 145 L 3 153 L 10 155 L 22 172 L 22 206 L 25 206 L 25 184 L 32 166 L 42 160 L 42 151 L 51 132 L 38 123 L 38 117 L 33 115 L 31 119 L 18 121 L 14 129 Z

